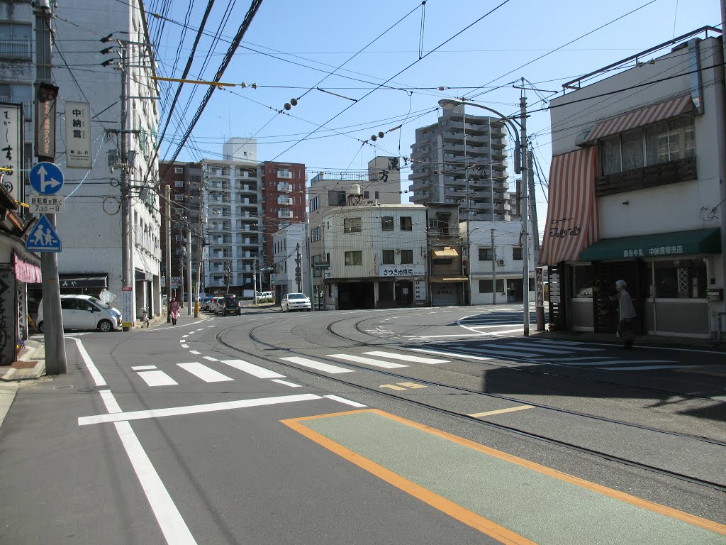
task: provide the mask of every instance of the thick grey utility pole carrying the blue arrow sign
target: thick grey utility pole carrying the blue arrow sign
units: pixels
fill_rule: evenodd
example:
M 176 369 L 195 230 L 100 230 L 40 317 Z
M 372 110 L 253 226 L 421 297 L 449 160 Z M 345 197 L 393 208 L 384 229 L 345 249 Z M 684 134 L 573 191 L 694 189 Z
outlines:
M 44 66 L 42 78 L 47 84 L 52 84 L 52 67 L 50 52 L 52 47 L 49 8 L 38 8 L 36 13 L 36 32 L 38 49 L 46 54 L 48 64 Z M 38 52 L 40 55 L 41 52 Z M 39 70 L 40 68 L 38 68 Z M 38 108 L 39 110 L 39 108 Z M 38 111 L 36 110 L 36 111 Z M 36 124 L 41 120 L 36 119 Z M 36 135 L 37 138 L 37 135 Z M 55 134 L 52 135 L 55 139 Z M 37 145 L 36 150 L 41 147 Z M 44 157 L 47 161 L 54 162 L 54 157 Z M 50 225 L 55 228 L 55 214 L 47 215 Z M 44 342 L 46 354 L 46 374 L 58 375 L 68 373 L 68 363 L 65 357 L 65 336 L 63 336 L 63 315 L 60 307 L 60 283 L 58 282 L 58 254 L 55 252 L 43 252 L 41 254 L 41 275 L 43 276 L 43 314 L 44 314 Z

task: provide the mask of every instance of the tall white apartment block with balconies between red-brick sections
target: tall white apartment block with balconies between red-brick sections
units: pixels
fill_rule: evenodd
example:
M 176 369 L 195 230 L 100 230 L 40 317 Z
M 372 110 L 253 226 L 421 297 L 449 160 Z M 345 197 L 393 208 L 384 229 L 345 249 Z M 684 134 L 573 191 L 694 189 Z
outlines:
M 222 161 L 203 160 L 205 291 L 253 296 L 262 255 L 262 193 L 257 142 L 230 139 Z M 257 286 L 258 291 L 261 291 Z

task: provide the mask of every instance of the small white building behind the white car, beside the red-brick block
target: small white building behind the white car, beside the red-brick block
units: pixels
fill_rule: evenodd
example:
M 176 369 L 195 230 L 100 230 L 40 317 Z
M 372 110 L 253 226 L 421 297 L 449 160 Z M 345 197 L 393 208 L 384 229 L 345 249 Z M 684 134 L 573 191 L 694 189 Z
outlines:
M 292 223 L 272 234 L 275 301 L 292 293 L 310 296 L 310 269 L 304 223 Z

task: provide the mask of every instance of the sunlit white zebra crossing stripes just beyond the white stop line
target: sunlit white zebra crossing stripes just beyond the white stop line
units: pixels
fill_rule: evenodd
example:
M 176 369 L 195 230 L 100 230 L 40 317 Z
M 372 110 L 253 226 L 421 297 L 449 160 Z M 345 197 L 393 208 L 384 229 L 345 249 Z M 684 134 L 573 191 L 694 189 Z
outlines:
M 435 365 L 437 363 L 448 363 L 449 360 L 440 358 L 424 358 L 422 356 L 404 355 L 396 352 L 383 352 L 374 350 L 370 352 L 362 352 L 363 355 L 351 354 L 328 354 L 326 359 L 335 359 L 342 362 L 361 364 L 370 368 L 394 369 L 408 367 L 400 361 L 408 361 L 415 363 L 425 363 Z M 201 359 L 201 358 L 200 358 Z M 180 382 L 188 382 L 191 377 L 200 379 L 208 384 L 215 382 L 231 382 L 235 378 L 231 369 L 242 371 L 246 375 L 254 376 L 258 379 L 270 379 L 272 382 L 284 384 L 288 387 L 300 387 L 299 384 L 288 382 L 285 375 L 271 371 L 270 369 L 257 366 L 245 360 L 219 360 L 212 356 L 203 356 L 207 362 L 189 361 L 184 363 L 176 363 L 166 370 L 159 369 L 154 365 L 133 366 L 132 371 L 136 371 L 136 376 L 142 379 L 148 387 L 177 386 Z M 301 368 L 313 369 L 326 374 L 343 374 L 354 373 L 356 370 L 349 367 L 335 366 L 314 358 L 303 358 L 301 356 L 287 356 L 280 358 L 287 363 L 293 363 Z M 221 364 L 221 365 L 220 365 Z M 214 367 L 212 367 L 214 366 Z

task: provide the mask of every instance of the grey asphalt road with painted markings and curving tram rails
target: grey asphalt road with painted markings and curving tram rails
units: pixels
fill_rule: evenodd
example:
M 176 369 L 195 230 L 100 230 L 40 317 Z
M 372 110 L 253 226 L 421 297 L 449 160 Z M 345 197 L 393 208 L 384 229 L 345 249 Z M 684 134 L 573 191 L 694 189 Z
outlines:
M 726 543 L 718 350 L 524 338 L 513 307 L 67 343 L 0 427 L 0 543 Z

